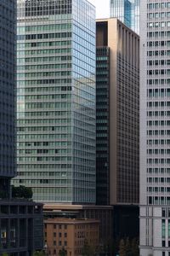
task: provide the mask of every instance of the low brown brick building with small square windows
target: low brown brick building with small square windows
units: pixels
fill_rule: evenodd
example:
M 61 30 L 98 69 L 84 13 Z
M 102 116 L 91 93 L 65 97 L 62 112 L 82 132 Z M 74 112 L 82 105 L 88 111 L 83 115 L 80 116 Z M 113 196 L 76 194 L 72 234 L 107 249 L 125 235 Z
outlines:
M 49 218 L 44 220 L 46 253 L 80 256 L 88 245 L 91 253 L 99 248 L 99 220 L 88 218 Z

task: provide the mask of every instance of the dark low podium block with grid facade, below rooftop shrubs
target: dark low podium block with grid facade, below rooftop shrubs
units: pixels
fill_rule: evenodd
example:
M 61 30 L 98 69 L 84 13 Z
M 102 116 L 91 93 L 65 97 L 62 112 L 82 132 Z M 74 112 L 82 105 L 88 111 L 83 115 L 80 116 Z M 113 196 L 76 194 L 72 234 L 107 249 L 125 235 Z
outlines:
M 0 255 L 32 256 L 42 247 L 42 204 L 0 200 Z

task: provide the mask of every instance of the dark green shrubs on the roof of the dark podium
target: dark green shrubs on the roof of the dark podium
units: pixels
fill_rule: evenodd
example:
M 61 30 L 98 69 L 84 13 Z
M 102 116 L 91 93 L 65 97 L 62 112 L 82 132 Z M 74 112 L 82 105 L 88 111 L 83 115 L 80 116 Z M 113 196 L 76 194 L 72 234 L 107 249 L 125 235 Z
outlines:
M 31 188 L 26 188 L 25 186 L 20 187 L 12 187 L 12 197 L 13 198 L 32 198 L 32 190 Z

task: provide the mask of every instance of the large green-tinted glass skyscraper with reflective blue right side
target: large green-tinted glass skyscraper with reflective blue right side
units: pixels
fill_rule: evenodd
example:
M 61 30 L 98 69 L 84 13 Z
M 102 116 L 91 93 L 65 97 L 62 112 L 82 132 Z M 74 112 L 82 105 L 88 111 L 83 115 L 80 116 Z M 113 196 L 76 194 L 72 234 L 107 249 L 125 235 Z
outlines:
M 36 201 L 95 202 L 95 9 L 18 0 L 17 168 Z

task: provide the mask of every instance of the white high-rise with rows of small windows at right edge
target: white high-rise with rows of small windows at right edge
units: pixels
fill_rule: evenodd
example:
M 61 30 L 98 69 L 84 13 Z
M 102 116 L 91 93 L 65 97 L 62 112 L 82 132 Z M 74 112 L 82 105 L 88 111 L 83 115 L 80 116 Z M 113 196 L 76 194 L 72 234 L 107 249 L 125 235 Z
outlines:
M 170 255 L 170 1 L 140 2 L 140 255 Z

